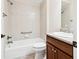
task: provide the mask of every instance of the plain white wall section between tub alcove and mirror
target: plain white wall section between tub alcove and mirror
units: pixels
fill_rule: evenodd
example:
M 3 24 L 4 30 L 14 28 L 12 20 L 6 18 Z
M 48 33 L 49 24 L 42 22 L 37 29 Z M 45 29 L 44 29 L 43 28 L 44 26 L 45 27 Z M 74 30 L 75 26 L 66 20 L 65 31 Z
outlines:
M 47 0 L 47 32 L 60 31 L 61 0 Z

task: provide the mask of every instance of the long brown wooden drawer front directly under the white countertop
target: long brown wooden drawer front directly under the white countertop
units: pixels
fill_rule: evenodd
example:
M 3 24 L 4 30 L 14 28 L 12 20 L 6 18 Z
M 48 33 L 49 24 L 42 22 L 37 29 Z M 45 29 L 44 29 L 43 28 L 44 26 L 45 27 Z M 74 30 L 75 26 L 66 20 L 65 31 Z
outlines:
M 73 46 L 69 45 L 65 42 L 62 42 L 56 38 L 47 36 L 47 42 L 54 45 L 55 47 L 57 47 L 58 49 L 62 50 L 63 52 L 67 53 L 70 56 L 73 56 Z

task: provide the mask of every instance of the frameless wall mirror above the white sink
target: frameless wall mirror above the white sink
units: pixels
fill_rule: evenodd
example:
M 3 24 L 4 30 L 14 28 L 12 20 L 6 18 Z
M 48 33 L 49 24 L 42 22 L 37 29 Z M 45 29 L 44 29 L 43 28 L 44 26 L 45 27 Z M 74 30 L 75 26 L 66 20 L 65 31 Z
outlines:
M 73 1 L 62 0 L 61 4 L 61 31 L 73 32 Z

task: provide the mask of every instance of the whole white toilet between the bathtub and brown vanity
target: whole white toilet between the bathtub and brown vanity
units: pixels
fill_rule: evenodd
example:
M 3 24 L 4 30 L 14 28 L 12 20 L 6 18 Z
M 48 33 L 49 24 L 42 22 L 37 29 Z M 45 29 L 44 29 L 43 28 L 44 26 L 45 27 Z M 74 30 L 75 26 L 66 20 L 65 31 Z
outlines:
M 39 42 L 34 44 L 35 59 L 44 59 L 46 44 L 45 42 Z

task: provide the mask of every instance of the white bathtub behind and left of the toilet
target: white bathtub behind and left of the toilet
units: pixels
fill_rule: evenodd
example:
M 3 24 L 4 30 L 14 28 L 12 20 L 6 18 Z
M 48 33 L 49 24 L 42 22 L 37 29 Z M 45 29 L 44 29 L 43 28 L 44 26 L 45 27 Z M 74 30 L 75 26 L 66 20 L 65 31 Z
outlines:
M 20 57 L 33 54 L 33 45 L 37 42 L 44 42 L 44 40 L 41 38 L 34 38 L 13 41 L 12 44 L 7 44 L 5 48 L 5 59 L 21 59 Z

